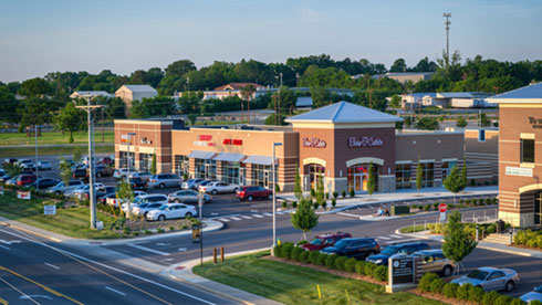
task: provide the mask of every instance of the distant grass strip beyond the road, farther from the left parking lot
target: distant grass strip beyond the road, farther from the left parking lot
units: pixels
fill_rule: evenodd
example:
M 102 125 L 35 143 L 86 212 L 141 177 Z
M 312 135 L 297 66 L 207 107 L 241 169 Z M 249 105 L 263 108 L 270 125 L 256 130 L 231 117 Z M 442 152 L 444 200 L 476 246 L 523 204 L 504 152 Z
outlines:
M 115 133 L 105 132 L 103 143 L 114 143 Z M 60 132 L 54 133 L 42 133 L 38 137 L 38 145 L 51 145 L 51 144 L 70 144 L 70 134 L 62 134 Z M 102 130 L 95 128 L 94 139 L 96 143 L 102 143 Z M 76 132 L 73 133 L 74 144 L 87 144 L 88 133 L 87 132 Z M 0 146 L 12 146 L 12 145 L 34 145 L 34 137 L 27 137 L 25 133 L 10 133 L 0 134 Z

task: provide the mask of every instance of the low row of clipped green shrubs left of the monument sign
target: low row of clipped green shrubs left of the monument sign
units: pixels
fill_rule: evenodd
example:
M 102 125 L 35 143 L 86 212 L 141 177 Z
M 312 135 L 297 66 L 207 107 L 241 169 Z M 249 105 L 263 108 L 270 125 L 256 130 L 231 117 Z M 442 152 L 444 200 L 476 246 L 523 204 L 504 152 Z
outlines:
M 305 251 L 291 242 L 285 242 L 274 248 L 274 255 L 302 263 L 326 266 L 338 271 L 355 272 L 367 275 L 376 281 L 387 281 L 387 266 L 378 266 L 371 262 L 357 261 L 336 254 L 324 254 L 319 251 Z

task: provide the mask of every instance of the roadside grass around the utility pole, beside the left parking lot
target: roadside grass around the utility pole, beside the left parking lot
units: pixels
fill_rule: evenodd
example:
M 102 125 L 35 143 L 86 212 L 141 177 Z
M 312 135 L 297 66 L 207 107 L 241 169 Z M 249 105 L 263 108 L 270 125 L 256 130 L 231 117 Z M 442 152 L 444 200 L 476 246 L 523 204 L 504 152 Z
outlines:
M 90 210 L 86 207 L 56 209 L 55 215 L 43 214 L 43 199 L 18 199 L 15 192 L 6 190 L 0 196 L 0 215 L 38 227 L 51 232 L 76 239 L 116 239 L 121 235 L 108 228 L 115 221 L 113 217 L 97 212 L 97 219 L 104 222 L 104 230 L 91 229 Z

